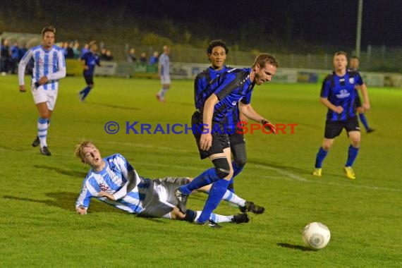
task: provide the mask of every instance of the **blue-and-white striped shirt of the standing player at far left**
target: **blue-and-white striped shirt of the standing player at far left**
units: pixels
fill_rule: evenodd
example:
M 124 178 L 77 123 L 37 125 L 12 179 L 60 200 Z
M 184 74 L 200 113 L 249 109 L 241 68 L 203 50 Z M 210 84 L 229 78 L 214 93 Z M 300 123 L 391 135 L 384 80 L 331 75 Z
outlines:
M 39 82 L 43 76 L 47 76 L 48 83 L 43 85 L 44 90 L 56 90 L 59 86 L 59 79 L 66 76 L 66 60 L 64 59 L 61 48 L 53 45 L 46 50 L 39 45 L 30 48 L 18 66 L 18 80 L 20 85 L 24 85 L 24 73 L 30 59 L 34 60 L 32 70 L 32 85 Z

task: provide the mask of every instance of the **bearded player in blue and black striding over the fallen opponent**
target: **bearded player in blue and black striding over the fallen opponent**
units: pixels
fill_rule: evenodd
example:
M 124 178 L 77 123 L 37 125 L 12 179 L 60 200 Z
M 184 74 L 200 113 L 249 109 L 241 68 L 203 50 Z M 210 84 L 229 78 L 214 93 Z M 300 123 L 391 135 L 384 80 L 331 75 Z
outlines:
M 208 157 L 214 168 L 207 169 L 188 185 L 178 188 L 175 195 L 178 208 L 185 212 L 188 195 L 193 190 L 213 183 L 202 214 L 197 220 L 199 224 L 217 225 L 211 222 L 209 215 L 219 205 L 233 177 L 230 142 L 224 129 L 226 118 L 232 109 L 239 105 L 240 111 L 247 118 L 270 128 L 267 120 L 250 106 L 250 97 L 255 85 L 262 85 L 271 80 L 278 65 L 274 56 L 260 54 L 251 68 L 226 71 L 219 75 L 216 87 L 213 87 L 214 83 L 209 83 L 211 87 L 207 86 L 196 97 L 197 111 L 193 114 L 192 124 L 200 131 L 195 130 L 193 134 L 201 159 Z

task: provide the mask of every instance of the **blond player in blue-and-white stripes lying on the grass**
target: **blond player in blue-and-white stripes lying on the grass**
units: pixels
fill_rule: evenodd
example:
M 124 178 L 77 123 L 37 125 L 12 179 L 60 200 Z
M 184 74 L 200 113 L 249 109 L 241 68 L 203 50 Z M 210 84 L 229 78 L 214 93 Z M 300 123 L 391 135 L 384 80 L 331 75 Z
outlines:
M 75 210 L 79 214 L 86 214 L 91 197 L 96 197 L 118 209 L 143 217 L 162 217 L 193 222 L 200 216 L 201 212 L 190 209 L 184 214 L 174 205 L 176 202 L 174 191 L 181 185 L 189 183 L 192 178 L 166 177 L 153 180 L 142 178 L 121 154 L 113 154 L 102 159 L 99 150 L 90 141 L 78 144 L 75 156 L 92 168 L 75 202 Z M 210 185 L 207 185 L 200 190 L 207 192 L 209 188 Z M 229 190 L 226 191 L 223 199 L 238 205 L 243 213 L 231 216 L 212 214 L 212 221 L 247 223 L 249 219 L 245 212 L 255 214 L 264 212 L 263 207 L 243 200 Z

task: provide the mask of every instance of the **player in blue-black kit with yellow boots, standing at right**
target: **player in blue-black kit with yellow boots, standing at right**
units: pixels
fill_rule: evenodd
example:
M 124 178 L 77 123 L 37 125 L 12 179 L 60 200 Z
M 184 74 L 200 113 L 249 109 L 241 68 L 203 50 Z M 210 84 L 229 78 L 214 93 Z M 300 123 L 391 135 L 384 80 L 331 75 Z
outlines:
M 348 149 L 348 159 L 343 170 L 350 179 L 355 179 L 355 172 L 352 169 L 353 162 L 358 156 L 360 147 L 360 127 L 356 116 L 355 98 L 358 88 L 363 95 L 363 108 L 370 109 L 370 102 L 367 95 L 367 88 L 360 73 L 348 71 L 346 66 L 348 60 L 346 52 L 338 51 L 334 54 L 335 71 L 327 76 L 322 83 L 320 102 L 328 107 L 327 121 L 325 122 L 324 140 L 322 147 L 319 147 L 315 160 L 315 171 L 313 175 L 322 175 L 322 162 L 334 144 L 334 138 L 339 136 L 343 130 L 348 132 L 351 145 Z

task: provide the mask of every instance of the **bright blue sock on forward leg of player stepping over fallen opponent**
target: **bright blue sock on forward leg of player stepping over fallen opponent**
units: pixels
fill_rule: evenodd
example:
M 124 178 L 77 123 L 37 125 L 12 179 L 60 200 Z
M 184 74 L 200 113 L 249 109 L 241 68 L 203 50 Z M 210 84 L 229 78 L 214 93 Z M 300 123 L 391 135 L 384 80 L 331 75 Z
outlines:
M 219 202 L 221 202 L 222 197 L 224 197 L 228 185 L 229 181 L 226 181 L 224 178 L 215 181 L 214 184 L 212 184 L 212 188 L 209 190 L 207 202 L 205 202 L 204 209 L 202 209 L 201 215 L 197 219 L 198 223 L 202 224 L 211 217 L 211 213 L 218 207 Z

